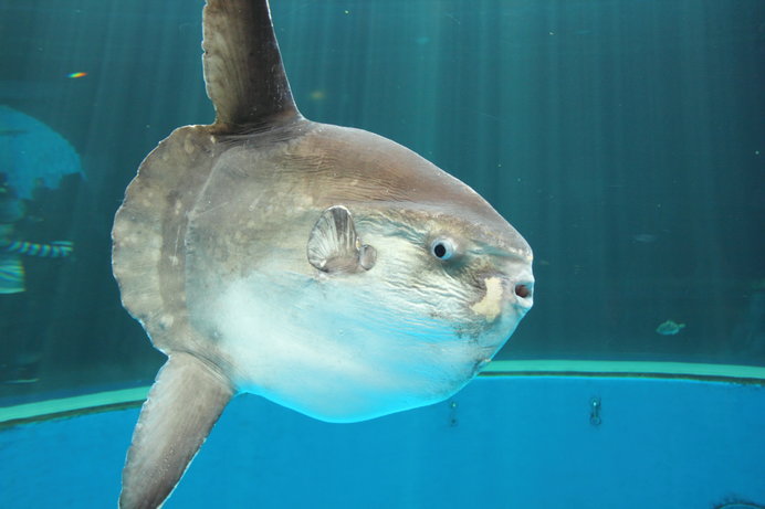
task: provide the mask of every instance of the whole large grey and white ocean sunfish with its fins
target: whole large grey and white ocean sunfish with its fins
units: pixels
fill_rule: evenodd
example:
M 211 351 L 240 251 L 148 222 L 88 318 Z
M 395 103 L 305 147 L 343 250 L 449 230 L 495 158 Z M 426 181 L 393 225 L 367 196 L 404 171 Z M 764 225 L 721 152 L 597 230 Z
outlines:
M 532 251 L 415 152 L 297 112 L 266 0 L 208 0 L 209 126 L 176 129 L 112 232 L 125 308 L 168 356 L 119 505 L 169 496 L 249 392 L 328 422 L 442 401 L 532 307 Z

